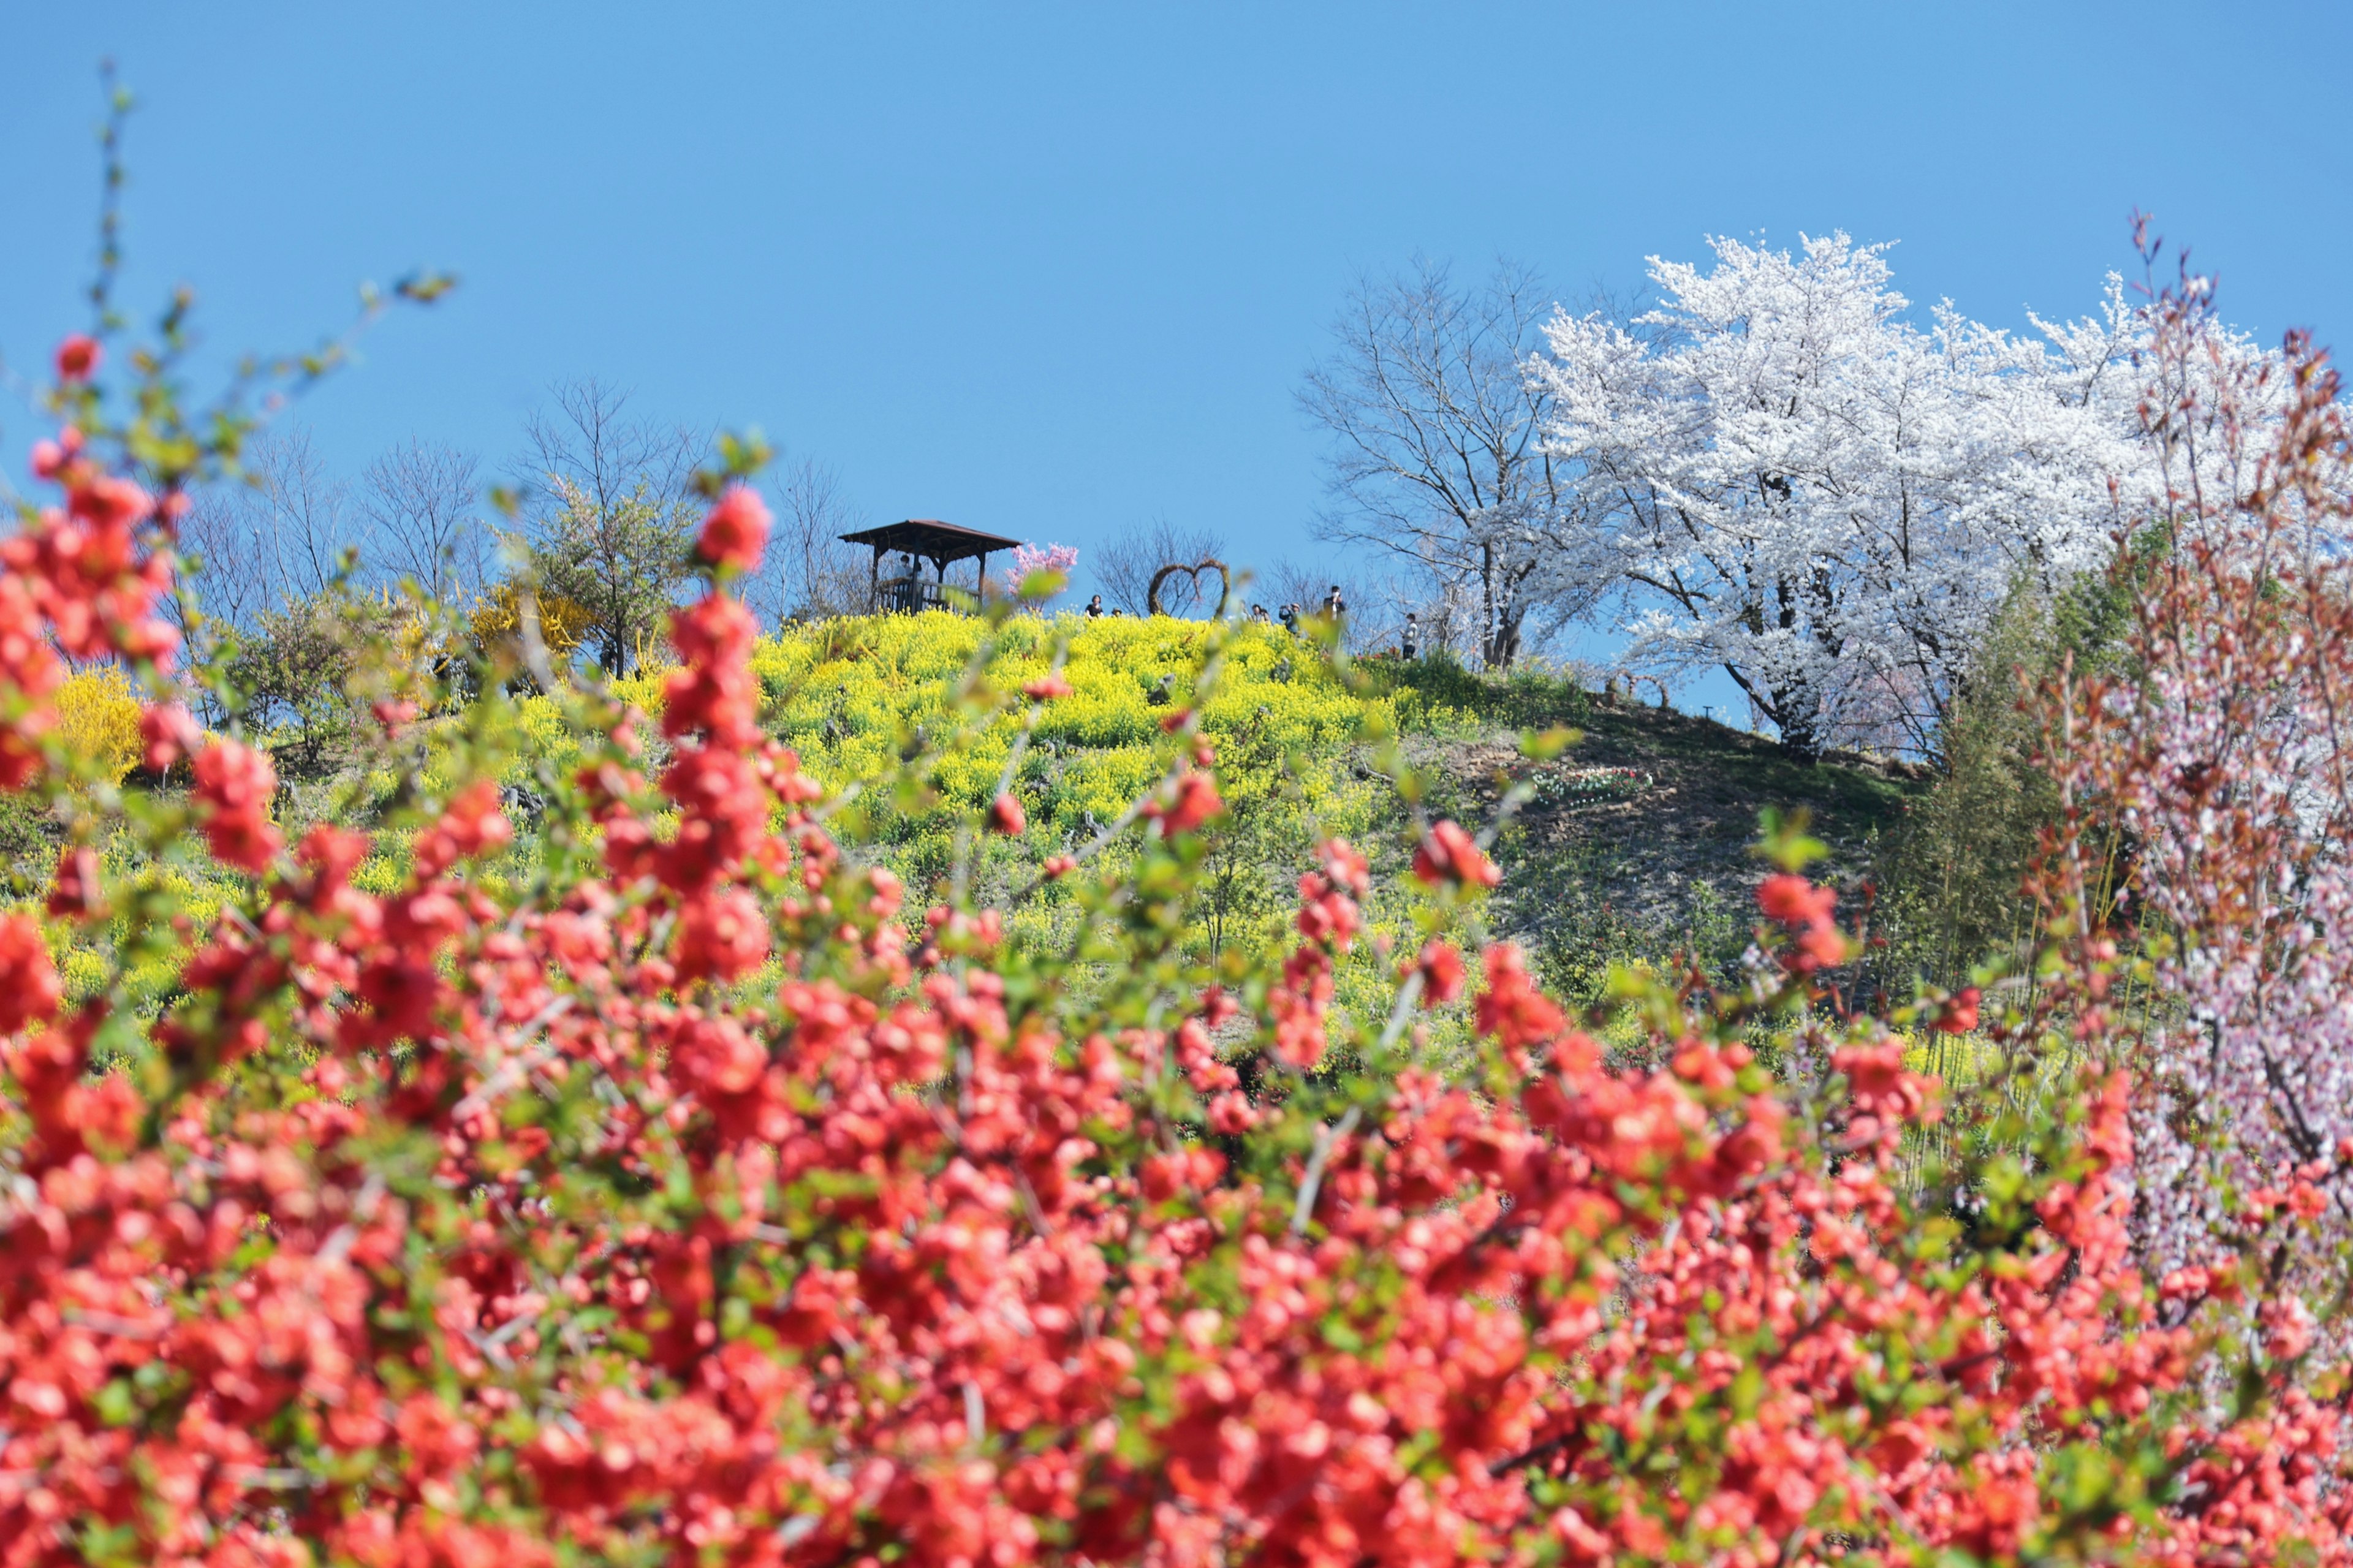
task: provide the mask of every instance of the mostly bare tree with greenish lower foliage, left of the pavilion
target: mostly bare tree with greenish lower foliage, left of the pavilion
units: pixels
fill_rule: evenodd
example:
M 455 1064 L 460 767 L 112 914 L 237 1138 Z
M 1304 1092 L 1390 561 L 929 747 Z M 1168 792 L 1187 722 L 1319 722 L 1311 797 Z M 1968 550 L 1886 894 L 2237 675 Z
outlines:
M 624 673 L 687 577 L 692 478 L 708 443 L 628 417 L 628 393 L 593 377 L 553 396 L 525 426 L 518 461 L 534 565 L 548 591 L 588 612 L 605 671 Z

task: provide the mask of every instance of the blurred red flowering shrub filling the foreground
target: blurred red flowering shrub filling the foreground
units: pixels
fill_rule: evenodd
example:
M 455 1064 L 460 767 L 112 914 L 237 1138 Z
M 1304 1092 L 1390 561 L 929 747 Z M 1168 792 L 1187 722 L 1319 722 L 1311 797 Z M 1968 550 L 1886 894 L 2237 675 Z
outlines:
M 52 640 L 169 713 L 169 509 L 82 428 L 0 574 L 14 786 L 75 765 Z M 515 833 L 485 683 L 388 890 L 360 831 L 285 848 L 214 739 L 188 808 L 92 810 L 160 866 L 193 822 L 242 899 L 75 862 L 56 939 L 120 913 L 71 1005 L 0 923 L 0 1566 L 2346 1559 L 2311 1316 L 2273 1302 L 2214 1401 L 2200 1309 L 2252 1276 L 2134 1269 L 2127 1081 L 1899 1180 L 1937 1090 L 1826 1005 L 1847 939 L 1793 864 L 1739 991 L 1628 979 L 1657 1069 L 1494 946 L 1440 1076 L 1414 1003 L 1497 881 L 1461 826 L 1414 841 L 1386 1019 L 1334 1008 L 1348 845 L 1289 954 L 1212 970 L 1184 720 L 1160 831 L 1049 866 L 1085 930 L 1031 949 L 833 836 L 720 586 L 673 643 L 659 779 L 572 692 L 605 742 L 527 873 L 475 873 Z

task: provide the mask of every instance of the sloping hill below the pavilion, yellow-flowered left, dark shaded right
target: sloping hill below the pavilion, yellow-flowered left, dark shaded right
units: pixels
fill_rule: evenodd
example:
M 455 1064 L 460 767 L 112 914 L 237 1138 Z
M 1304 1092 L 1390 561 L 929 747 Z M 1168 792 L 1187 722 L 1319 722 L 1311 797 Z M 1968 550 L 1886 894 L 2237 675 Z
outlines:
M 1019 843 L 979 845 L 984 892 L 1026 881 L 1038 857 L 1075 848 L 1092 822 L 1115 817 L 1158 777 L 1169 751 L 1160 718 L 1188 699 L 1205 631 L 1198 622 L 1078 619 L 1005 629 L 998 680 L 1040 673 L 1049 640 L 1061 633 L 1075 643 L 1068 676 L 1078 695 L 1054 704 L 1040 744 L 1019 768 L 1014 789 L 1031 812 L 1031 833 Z M 866 777 L 899 753 L 913 727 L 944 720 L 948 687 L 976 636 L 976 622 L 927 614 L 835 622 L 762 640 L 755 671 L 769 697 L 767 720 L 800 746 L 819 777 Z M 1612 706 L 1541 676 L 1485 680 L 1440 662 L 1369 664 L 1365 671 L 1372 690 L 1353 695 L 1280 631 L 1242 629 L 1231 645 L 1226 685 L 1205 720 L 1238 810 L 1221 838 L 1231 841 L 1238 862 L 1249 862 L 1238 866 L 1233 913 L 1259 939 L 1287 939 L 1292 883 L 1311 864 L 1318 833 L 1348 833 L 1384 862 L 1386 876 L 1402 876 L 1395 836 L 1402 808 L 1372 770 L 1372 749 L 1360 737 L 1377 711 L 1386 713 L 1381 727 L 1402 730 L 1407 753 L 1433 786 L 1431 805 L 1468 824 L 1492 815 L 1499 770 L 1525 768 L 1515 739 L 1527 727 L 1569 723 L 1584 730 L 1584 742 L 1551 765 L 1553 772 L 1607 765 L 1647 777 L 1633 798 L 1539 800 L 1497 845 L 1506 878 L 1489 906 L 1489 930 L 1527 944 L 1546 977 L 1579 1001 L 1598 991 L 1612 961 L 1657 961 L 1687 949 L 1720 970 L 1739 956 L 1758 876 L 1748 845 L 1767 805 L 1807 808 L 1817 833 L 1833 845 L 1831 871 L 1852 876 L 1868 864 L 1875 838 L 1894 824 L 1913 789 L 1906 775 L 1885 765 L 1842 758 L 1807 768 L 1772 742 L 1713 720 Z M 1174 687 L 1169 697 L 1153 690 L 1162 678 Z M 621 685 L 635 702 L 659 706 L 659 676 Z M 508 777 L 551 789 L 569 775 L 576 739 L 546 699 L 518 704 L 515 720 Z M 953 822 L 995 789 L 1007 742 L 1009 725 L 995 725 L 946 758 L 932 775 L 939 791 L 932 810 L 918 803 L 882 810 L 878 848 L 918 899 L 948 871 Z M 435 772 L 428 763 L 428 782 Z M 391 888 L 407 848 L 407 831 L 376 810 L 391 784 L 388 772 L 353 758 L 334 777 L 292 786 L 282 826 L 299 831 L 315 817 L 344 817 L 376 829 L 379 855 L 362 866 L 360 881 Z M 12 862 L 19 897 L 33 897 L 54 864 L 56 831 L 54 824 L 21 826 L 28 831 L 9 836 L 0 852 Z M 513 864 L 482 873 L 520 871 L 527 857 L 518 845 Z M 202 866 L 188 873 L 202 876 Z M 212 895 L 235 883 L 226 873 L 214 881 L 219 888 L 198 890 L 207 895 L 200 913 L 209 913 Z M 1402 888 L 1398 892 L 1405 897 Z M 1402 909 L 1384 906 L 1381 913 L 1402 918 Z M 66 965 L 75 986 L 96 977 L 96 954 L 68 954 Z

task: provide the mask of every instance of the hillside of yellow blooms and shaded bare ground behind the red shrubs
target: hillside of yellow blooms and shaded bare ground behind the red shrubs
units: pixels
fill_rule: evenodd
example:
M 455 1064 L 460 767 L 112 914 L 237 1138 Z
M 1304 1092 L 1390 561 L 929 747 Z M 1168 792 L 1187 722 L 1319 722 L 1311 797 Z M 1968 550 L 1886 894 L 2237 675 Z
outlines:
M 1304 643 L 1266 626 L 1238 626 L 1217 638 L 1205 622 L 1016 617 L 993 633 L 988 655 L 974 666 L 984 636 L 984 622 L 953 614 L 786 629 L 753 652 L 762 720 L 798 749 L 814 777 L 866 791 L 852 810 L 873 831 L 871 852 L 913 897 L 946 897 L 965 855 L 974 890 L 1009 899 L 1035 881 L 1047 855 L 1085 850 L 1162 775 L 1174 751 L 1162 720 L 1200 702 L 1202 735 L 1217 746 L 1228 805 L 1212 836 L 1212 876 L 1193 911 L 1212 951 L 1292 939 L 1294 883 L 1313 864 L 1322 836 L 1353 838 L 1386 866 L 1393 892 L 1367 913 L 1377 930 L 1405 937 L 1414 906 L 1409 878 L 1402 878 L 1405 808 L 1379 770 L 1384 735 L 1398 737 L 1405 760 L 1431 789 L 1433 810 L 1478 826 L 1494 812 L 1506 777 L 1529 777 L 1518 756 L 1520 732 L 1560 723 L 1584 732 L 1560 760 L 1532 770 L 1537 796 L 1497 843 L 1506 876 L 1485 918 L 1492 935 L 1522 942 L 1546 979 L 1579 1001 L 1595 996 L 1612 961 L 1659 961 L 1678 949 L 1718 970 L 1737 961 L 1753 925 L 1748 890 L 1758 866 L 1751 845 L 1765 808 L 1805 808 L 1833 848 L 1831 873 L 1852 878 L 1868 866 L 1873 843 L 1915 786 L 1906 772 L 1864 758 L 1807 768 L 1755 735 L 1671 709 L 1612 704 L 1537 673 L 1489 680 L 1447 662 L 1367 662 L 1346 678 Z M 1045 704 L 1019 758 L 1012 720 L 960 730 L 960 683 L 976 676 L 1009 690 L 1035 680 L 1059 640 L 1068 640 L 1064 678 L 1073 690 Z M 1212 645 L 1219 676 L 1214 690 L 1200 692 L 1200 664 Z M 612 692 L 656 711 L 664 671 L 616 680 Z M 111 690 L 92 690 L 85 706 L 92 713 L 134 709 Z M 115 730 L 134 727 L 115 718 Z M 273 808 L 278 824 L 289 833 L 313 822 L 369 829 L 372 855 L 355 883 L 388 890 L 409 857 L 412 829 L 400 800 L 438 789 L 447 749 L 464 732 L 475 732 L 468 744 L 487 742 L 504 756 L 501 777 L 518 808 L 567 793 L 586 739 L 565 702 L 532 695 L 447 709 L 428 730 L 435 739 L 424 756 L 400 763 L 367 744 L 367 727 L 353 720 L 341 725 L 351 744 L 318 768 L 301 768 L 311 756 L 304 735 L 264 737 L 280 742 L 273 749 L 294 775 Z M 115 749 L 127 768 L 132 751 Z M 659 763 L 659 739 L 654 749 L 649 760 Z M 861 784 L 925 749 L 936 756 L 911 786 L 873 791 Z M 1026 833 L 960 841 L 960 824 L 988 805 L 1000 782 L 1021 800 Z M 492 883 L 527 878 L 539 864 L 529 822 L 536 805 L 522 815 L 515 848 L 480 871 Z M 5 826 L 9 836 L 0 848 L 19 895 L 28 897 L 49 881 L 59 824 L 12 817 Z M 101 836 L 99 843 L 120 871 L 141 859 L 125 838 Z M 1111 843 L 1104 852 L 1118 862 L 1127 848 Z M 205 864 L 167 876 L 207 916 L 240 881 Z M 1068 918 L 1059 888 L 1035 892 L 1016 913 L 1024 925 L 1052 928 Z M 71 994 L 99 984 L 106 949 L 101 937 L 59 954 Z M 1386 968 L 1372 956 L 1362 958 L 1360 975 L 1358 968 L 1344 965 L 1344 989 L 1386 984 Z M 134 1005 L 153 1005 L 169 989 L 172 975 L 141 972 Z

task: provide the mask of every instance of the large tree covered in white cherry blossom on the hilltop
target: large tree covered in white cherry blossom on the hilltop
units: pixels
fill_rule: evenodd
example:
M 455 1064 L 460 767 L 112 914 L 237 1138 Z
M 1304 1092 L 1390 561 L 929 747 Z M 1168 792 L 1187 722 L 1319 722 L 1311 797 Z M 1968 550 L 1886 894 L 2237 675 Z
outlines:
M 1652 259 L 1633 332 L 1562 311 L 1527 363 L 1593 530 L 1544 589 L 1614 596 L 1631 664 L 1722 666 L 1802 753 L 1934 751 L 2002 598 L 2108 553 L 2111 480 L 2146 469 L 2141 320 L 2111 278 L 2089 320 L 1922 327 L 1885 245 L 1711 245 Z

